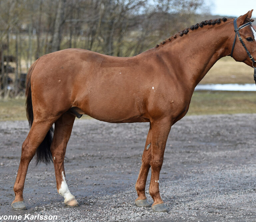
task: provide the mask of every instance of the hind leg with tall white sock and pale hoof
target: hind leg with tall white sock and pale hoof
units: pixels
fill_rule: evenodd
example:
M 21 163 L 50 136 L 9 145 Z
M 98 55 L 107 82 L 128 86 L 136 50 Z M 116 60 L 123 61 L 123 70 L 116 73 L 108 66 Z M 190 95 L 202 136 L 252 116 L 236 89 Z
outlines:
M 58 193 L 65 198 L 64 203 L 69 206 L 78 206 L 75 197 L 68 189 L 64 170 L 64 157 L 74 120 L 75 116 L 66 112 L 55 122 L 53 141 L 51 144 L 57 190 Z

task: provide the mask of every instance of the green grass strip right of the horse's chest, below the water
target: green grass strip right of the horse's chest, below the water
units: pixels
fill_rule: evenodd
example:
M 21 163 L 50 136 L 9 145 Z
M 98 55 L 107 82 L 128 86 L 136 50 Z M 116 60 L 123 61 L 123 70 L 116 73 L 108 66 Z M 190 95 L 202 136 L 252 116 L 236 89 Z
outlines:
M 255 92 L 196 91 L 188 115 L 255 112 Z

